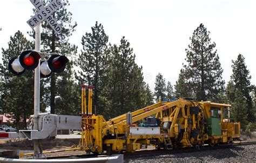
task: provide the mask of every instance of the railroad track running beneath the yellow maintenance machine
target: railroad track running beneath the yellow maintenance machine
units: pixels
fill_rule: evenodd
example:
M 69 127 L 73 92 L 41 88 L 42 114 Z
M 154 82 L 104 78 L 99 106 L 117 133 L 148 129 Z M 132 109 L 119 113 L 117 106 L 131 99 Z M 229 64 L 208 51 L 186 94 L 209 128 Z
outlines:
M 254 145 L 256 141 L 248 141 L 248 142 L 238 142 L 234 144 L 228 145 L 218 145 L 218 146 L 203 146 L 198 148 L 182 148 L 182 149 L 174 149 L 174 150 L 142 150 L 136 152 L 123 152 L 124 159 L 131 159 L 131 158 L 141 158 L 141 157 L 149 157 L 154 155 L 169 155 L 169 154 L 177 154 L 177 153 L 191 153 L 191 152 L 201 152 L 206 150 L 218 150 L 220 148 L 231 148 L 235 146 L 241 145 Z M 78 155 L 60 155 L 60 156 L 49 156 L 47 159 L 76 159 L 76 158 L 93 158 L 93 157 L 106 157 L 106 153 L 96 154 L 78 154 Z

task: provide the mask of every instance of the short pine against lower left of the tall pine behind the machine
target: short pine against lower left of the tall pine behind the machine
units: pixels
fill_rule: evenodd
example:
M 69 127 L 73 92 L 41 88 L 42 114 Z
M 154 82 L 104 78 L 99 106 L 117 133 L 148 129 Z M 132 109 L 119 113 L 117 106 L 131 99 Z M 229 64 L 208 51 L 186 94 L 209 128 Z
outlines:
M 174 85 L 174 96 L 176 98 L 193 98 L 192 89 L 187 82 L 186 73 L 184 69 L 180 70 L 179 78 Z

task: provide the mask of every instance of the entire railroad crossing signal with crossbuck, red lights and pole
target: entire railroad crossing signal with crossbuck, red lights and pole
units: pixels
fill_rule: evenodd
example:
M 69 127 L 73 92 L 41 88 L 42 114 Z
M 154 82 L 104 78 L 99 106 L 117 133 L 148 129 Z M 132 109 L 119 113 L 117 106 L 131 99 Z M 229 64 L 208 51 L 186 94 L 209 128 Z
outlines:
M 41 22 L 46 20 L 46 22 L 51 26 L 51 28 L 56 32 L 59 33 L 62 31 L 62 27 L 57 23 L 57 21 L 51 16 L 51 13 L 55 12 L 61 5 L 61 0 L 52 0 L 50 4 L 44 6 L 41 3 L 41 0 L 30 0 L 30 2 L 36 7 L 37 13 L 32 18 L 30 18 L 26 23 L 33 29 L 35 29 L 35 50 L 38 53 L 40 51 L 40 42 L 41 42 Z M 52 55 L 52 54 L 50 54 Z M 54 56 L 54 57 L 53 57 Z M 55 56 L 53 55 L 50 57 L 49 61 L 46 62 L 46 59 L 38 60 L 40 61 L 41 65 L 36 66 L 35 69 L 35 78 L 34 78 L 34 117 L 39 116 L 40 112 L 40 77 L 49 77 L 52 72 L 62 72 L 65 69 L 66 63 L 68 62 L 68 58 L 65 56 Z M 28 58 L 29 60 L 30 58 Z M 34 58 L 35 59 L 35 58 Z M 14 62 L 16 60 L 16 62 Z M 14 74 L 21 74 L 24 73 L 22 69 L 22 65 L 17 58 L 13 59 L 12 62 L 9 63 L 9 69 Z M 35 60 L 34 60 L 35 61 Z M 32 61 L 29 60 L 32 64 Z M 17 68 L 17 69 L 16 69 Z M 23 67 L 25 69 L 25 67 Z M 33 119 L 33 130 L 39 130 L 38 119 Z M 40 141 L 34 141 L 34 154 L 33 158 L 45 158 L 45 155 L 42 153 L 40 148 Z

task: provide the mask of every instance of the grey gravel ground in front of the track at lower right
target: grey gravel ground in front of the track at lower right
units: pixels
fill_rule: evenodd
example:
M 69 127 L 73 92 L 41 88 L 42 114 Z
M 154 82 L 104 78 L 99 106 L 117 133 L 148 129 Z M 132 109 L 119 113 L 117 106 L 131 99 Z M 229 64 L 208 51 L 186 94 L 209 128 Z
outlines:
M 154 155 L 147 158 L 125 159 L 125 162 L 256 162 L 256 145 L 191 153 Z

